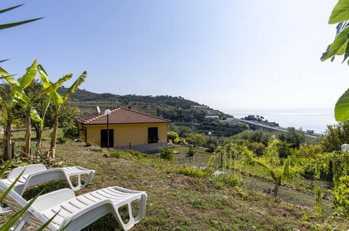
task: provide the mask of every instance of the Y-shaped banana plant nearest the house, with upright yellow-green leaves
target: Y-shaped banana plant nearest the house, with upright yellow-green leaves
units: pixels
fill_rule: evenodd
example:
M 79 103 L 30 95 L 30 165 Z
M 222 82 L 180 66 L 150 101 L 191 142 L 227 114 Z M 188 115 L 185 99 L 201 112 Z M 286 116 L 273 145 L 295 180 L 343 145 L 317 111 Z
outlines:
M 40 64 L 38 65 L 38 73 L 43 81 L 43 88 L 44 90 L 47 89 L 52 85 L 52 81 L 50 80 L 50 77 L 48 77 L 48 73 L 46 73 L 45 69 L 43 69 L 43 66 Z M 71 77 L 72 75 L 70 75 Z M 68 91 L 66 94 L 64 94 L 63 97 L 61 97 L 57 91 L 50 92 L 48 96 L 52 99 L 53 103 L 55 104 L 55 122 L 53 125 L 53 132 L 51 134 L 51 145 L 50 145 L 50 150 L 48 151 L 48 156 L 50 158 L 55 158 L 56 156 L 56 139 L 57 139 L 57 130 L 58 130 L 58 118 L 59 118 L 59 109 L 68 100 L 69 94 L 75 92 L 78 87 L 85 82 L 85 78 L 87 77 L 87 72 L 84 71 L 80 77 L 69 87 Z

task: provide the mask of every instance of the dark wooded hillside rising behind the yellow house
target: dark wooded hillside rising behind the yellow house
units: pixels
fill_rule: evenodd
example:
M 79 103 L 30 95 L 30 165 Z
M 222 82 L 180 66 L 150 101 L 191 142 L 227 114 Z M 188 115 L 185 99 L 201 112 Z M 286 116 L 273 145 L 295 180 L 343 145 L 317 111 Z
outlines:
M 67 90 L 68 88 L 60 87 L 57 92 L 63 95 Z M 172 120 L 171 130 L 182 134 L 185 132 L 203 134 L 212 132 L 215 137 L 230 137 L 248 129 L 243 124 L 220 123 L 219 120 L 231 118 L 232 116 L 183 97 L 98 94 L 87 90 L 77 90 L 70 95 L 70 99 L 83 111 L 84 115 L 95 113 L 97 106 L 102 111 L 122 106 Z M 219 119 L 206 118 L 206 116 L 219 116 Z

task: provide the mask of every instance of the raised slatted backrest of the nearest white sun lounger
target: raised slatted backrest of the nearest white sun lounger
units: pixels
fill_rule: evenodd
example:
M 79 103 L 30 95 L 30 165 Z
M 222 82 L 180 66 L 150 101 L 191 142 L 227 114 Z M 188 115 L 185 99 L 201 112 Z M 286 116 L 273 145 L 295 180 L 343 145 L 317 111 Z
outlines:
M 6 185 L 6 183 L 3 183 L 2 181 L 0 181 L 0 194 L 5 193 L 7 188 L 8 186 Z M 3 202 L 16 212 L 20 211 L 28 204 L 28 202 L 24 200 L 24 198 L 21 197 L 18 193 L 16 193 L 15 190 L 13 189 L 11 189 L 8 195 L 6 195 Z M 32 223 L 35 223 L 41 226 L 46 221 L 48 221 L 48 218 L 45 218 L 43 215 L 41 215 L 38 211 L 36 211 L 36 209 L 34 209 L 34 207 L 29 207 L 28 211 L 31 214 L 33 214 L 33 216 L 31 216 L 30 218 Z

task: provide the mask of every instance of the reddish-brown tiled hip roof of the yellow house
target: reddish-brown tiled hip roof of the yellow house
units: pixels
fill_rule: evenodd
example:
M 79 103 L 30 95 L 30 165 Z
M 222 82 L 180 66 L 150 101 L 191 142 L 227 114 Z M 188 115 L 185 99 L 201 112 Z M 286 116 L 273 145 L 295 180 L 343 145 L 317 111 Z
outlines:
M 104 125 L 107 123 L 107 116 L 104 112 L 95 113 L 88 116 L 83 116 L 76 119 L 78 123 L 84 125 Z M 171 120 L 151 116 L 131 109 L 124 109 L 122 107 L 111 109 L 109 116 L 109 124 L 127 124 L 127 123 L 171 123 Z

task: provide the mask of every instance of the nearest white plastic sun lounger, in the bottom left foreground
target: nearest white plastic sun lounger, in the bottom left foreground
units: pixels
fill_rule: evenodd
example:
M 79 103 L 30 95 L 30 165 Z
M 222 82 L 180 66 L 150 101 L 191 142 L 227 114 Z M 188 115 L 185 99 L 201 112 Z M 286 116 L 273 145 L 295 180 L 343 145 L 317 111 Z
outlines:
M 2 194 L 7 188 L 8 186 L 0 181 L 0 193 Z M 140 200 L 139 214 L 136 217 L 132 215 L 131 211 L 131 202 L 135 200 Z M 115 216 L 117 223 L 123 230 L 129 230 L 145 215 L 146 201 L 147 194 L 145 192 L 117 186 L 96 190 L 78 197 L 73 190 L 65 188 L 38 197 L 21 220 L 17 221 L 13 230 L 22 229 L 26 223 L 38 228 L 58 211 L 58 215 L 45 230 L 59 230 L 70 221 L 71 223 L 66 230 L 81 230 L 110 213 Z M 4 202 L 14 211 L 20 211 L 28 203 L 12 189 L 6 195 Z M 125 204 L 127 204 L 129 211 L 127 224 L 122 221 L 118 211 Z

